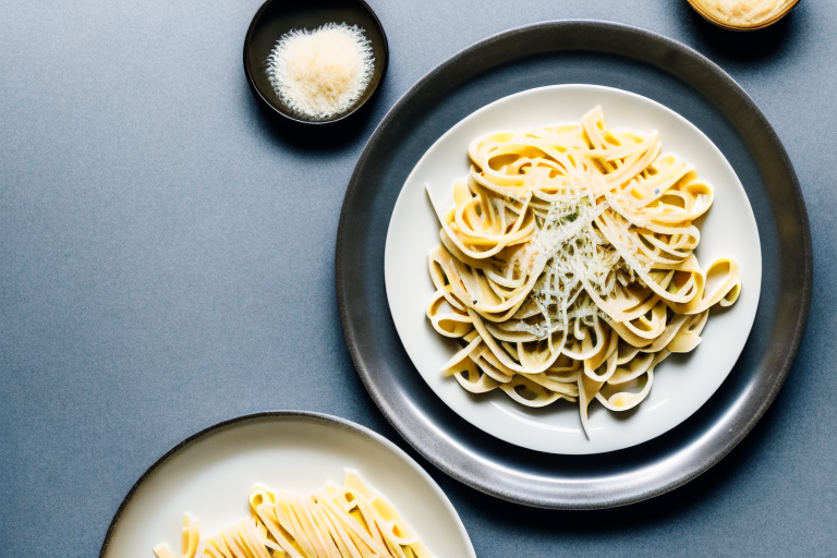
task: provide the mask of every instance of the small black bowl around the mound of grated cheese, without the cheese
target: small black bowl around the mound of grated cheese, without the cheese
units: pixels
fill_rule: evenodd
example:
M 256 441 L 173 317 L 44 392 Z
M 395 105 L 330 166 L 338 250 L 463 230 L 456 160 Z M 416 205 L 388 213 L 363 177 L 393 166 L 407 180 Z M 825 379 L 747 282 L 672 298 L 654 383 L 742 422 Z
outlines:
M 375 69 L 366 90 L 344 112 L 325 119 L 311 119 L 286 105 L 267 77 L 267 57 L 279 38 L 291 29 L 313 31 L 326 23 L 345 23 L 363 28 L 372 43 Z M 363 0 L 267 0 L 258 9 L 244 39 L 244 73 L 256 95 L 282 117 L 304 124 L 341 121 L 372 98 L 387 71 L 387 36 L 375 12 Z

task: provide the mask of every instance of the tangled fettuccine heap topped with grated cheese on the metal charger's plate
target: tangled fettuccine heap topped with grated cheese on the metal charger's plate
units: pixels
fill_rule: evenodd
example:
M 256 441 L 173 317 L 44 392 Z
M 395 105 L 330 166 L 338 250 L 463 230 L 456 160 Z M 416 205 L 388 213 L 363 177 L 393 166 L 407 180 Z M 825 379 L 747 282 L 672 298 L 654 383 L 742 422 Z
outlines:
M 656 132 L 609 130 L 601 107 L 487 134 L 469 156 L 453 204 L 430 195 L 441 244 L 426 314 L 461 343 L 442 372 L 527 407 L 578 401 L 590 436 L 593 400 L 635 408 L 656 366 L 701 342 L 709 308 L 738 299 L 738 263 L 694 255 L 713 189 Z

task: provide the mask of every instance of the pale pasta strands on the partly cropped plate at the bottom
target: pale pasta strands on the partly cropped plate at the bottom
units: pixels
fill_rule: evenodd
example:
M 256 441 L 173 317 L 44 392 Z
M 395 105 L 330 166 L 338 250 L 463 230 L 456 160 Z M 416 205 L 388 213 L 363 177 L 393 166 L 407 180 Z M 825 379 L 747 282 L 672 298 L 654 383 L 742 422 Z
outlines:
M 433 558 L 410 525 L 354 472 L 308 496 L 257 486 L 251 518 L 215 536 L 186 513 L 182 558 Z M 157 558 L 178 558 L 168 544 Z

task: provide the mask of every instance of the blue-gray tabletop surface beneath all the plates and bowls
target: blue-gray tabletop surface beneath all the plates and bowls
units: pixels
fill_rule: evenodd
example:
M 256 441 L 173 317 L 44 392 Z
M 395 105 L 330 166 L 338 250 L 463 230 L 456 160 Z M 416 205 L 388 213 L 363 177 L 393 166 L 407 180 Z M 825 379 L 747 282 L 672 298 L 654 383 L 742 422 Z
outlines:
M 481 557 L 837 554 L 833 3 L 804 0 L 755 35 L 717 32 L 679 0 L 371 4 L 390 40 L 380 96 L 353 134 L 315 144 L 267 122 L 247 88 L 257 1 L 0 2 L 0 554 L 95 556 L 148 465 L 242 413 L 328 412 L 404 447 L 340 332 L 345 184 L 421 75 L 492 33 L 561 17 L 682 40 L 750 93 L 808 203 L 808 330 L 750 436 L 662 498 L 545 512 L 428 471 Z

